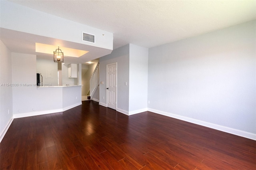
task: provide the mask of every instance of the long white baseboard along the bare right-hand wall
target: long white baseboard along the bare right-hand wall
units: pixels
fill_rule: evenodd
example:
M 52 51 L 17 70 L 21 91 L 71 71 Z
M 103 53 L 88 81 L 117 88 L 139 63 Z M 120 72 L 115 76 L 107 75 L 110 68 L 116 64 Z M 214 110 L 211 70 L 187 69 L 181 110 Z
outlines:
M 204 127 L 213 128 L 213 129 L 216 129 L 216 130 L 220 130 L 222 132 L 227 132 L 227 133 L 230 133 L 230 134 L 235 134 L 235 135 L 238 135 L 238 136 L 242 136 L 242 137 L 245 137 L 245 138 L 256 140 L 256 134 L 254 134 L 254 133 L 250 133 L 250 132 L 246 132 L 246 131 L 242 131 L 242 130 L 238 130 L 238 129 L 234 129 L 234 128 L 230 128 L 230 127 L 224 127 L 222 125 L 216 125 L 214 123 L 200 121 L 200 120 L 197 120 L 197 119 L 192 119 L 192 118 L 189 118 L 189 117 L 175 115 L 175 114 L 164 112 L 164 111 L 158 111 L 156 109 L 148 108 L 148 111 L 154 112 L 154 113 L 157 113 L 157 114 L 160 114 L 160 115 L 172 117 L 172 118 L 175 118 L 175 119 L 179 119 L 179 120 L 182 120 L 182 121 L 194 123 L 196 125 L 202 125 Z

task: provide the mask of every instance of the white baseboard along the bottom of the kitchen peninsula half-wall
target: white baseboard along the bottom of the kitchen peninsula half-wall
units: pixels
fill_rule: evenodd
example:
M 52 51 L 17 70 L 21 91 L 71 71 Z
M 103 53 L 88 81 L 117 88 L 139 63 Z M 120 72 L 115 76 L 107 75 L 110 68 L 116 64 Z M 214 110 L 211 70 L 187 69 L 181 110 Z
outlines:
M 64 107 L 62 109 L 54 109 L 54 110 L 47 110 L 47 111 L 38 111 L 38 112 L 28 112 L 28 113 L 20 113 L 20 114 L 14 114 L 13 118 L 22 118 L 22 117 L 30 117 L 30 116 L 38 116 L 38 115 L 46 115 L 50 113 L 58 113 L 58 112 L 64 112 L 67 111 L 68 109 L 72 109 L 74 107 L 77 107 L 79 105 L 82 105 L 82 102 L 76 103 L 74 105 L 70 105 L 68 107 Z

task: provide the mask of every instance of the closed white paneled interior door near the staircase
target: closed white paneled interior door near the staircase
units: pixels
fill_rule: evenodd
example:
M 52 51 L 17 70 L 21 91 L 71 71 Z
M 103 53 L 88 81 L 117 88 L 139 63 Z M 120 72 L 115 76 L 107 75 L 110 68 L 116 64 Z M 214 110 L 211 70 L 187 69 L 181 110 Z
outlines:
M 107 65 L 107 105 L 116 110 L 116 65 L 117 63 Z

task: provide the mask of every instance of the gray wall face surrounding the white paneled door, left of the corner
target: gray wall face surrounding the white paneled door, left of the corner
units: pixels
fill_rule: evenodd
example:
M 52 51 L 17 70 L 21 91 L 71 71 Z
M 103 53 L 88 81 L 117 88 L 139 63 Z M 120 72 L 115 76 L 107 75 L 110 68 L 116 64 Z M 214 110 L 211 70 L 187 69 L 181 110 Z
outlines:
M 111 54 L 100 57 L 100 105 L 106 106 L 106 65 L 117 62 L 117 103 L 116 110 L 129 112 L 129 44 L 114 49 Z

